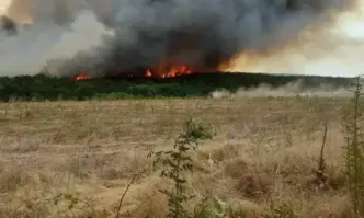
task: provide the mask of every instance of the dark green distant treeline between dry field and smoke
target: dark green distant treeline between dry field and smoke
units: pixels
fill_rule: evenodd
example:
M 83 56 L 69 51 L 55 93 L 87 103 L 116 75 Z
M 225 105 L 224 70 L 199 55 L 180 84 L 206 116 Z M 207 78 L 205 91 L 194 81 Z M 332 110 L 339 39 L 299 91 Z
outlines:
M 242 87 L 263 83 L 281 87 L 297 80 L 302 80 L 305 88 L 320 84 L 348 87 L 352 82 L 349 78 L 234 72 L 193 73 L 168 79 L 115 77 L 78 81 L 38 74 L 0 77 L 0 101 L 207 96 L 218 89 L 235 92 Z

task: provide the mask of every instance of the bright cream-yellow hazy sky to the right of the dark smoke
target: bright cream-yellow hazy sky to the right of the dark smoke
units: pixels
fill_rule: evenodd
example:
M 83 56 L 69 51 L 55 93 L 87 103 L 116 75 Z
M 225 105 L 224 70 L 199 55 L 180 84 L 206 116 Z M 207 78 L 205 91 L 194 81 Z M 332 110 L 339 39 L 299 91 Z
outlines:
M 355 77 L 363 73 L 363 56 L 364 1 L 357 1 L 355 7 L 333 16 L 330 25 L 305 28 L 299 37 L 265 54 L 242 51 L 225 69 Z

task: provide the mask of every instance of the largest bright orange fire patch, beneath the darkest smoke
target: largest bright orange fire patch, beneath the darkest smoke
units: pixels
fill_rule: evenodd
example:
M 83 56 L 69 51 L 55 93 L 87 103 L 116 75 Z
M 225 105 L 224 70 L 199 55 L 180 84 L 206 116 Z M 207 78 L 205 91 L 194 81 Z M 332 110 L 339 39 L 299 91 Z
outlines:
M 152 69 L 147 69 L 145 71 L 146 77 L 160 77 L 160 78 L 173 78 L 173 77 L 179 77 L 183 74 L 191 74 L 192 69 L 191 67 L 186 65 L 175 65 L 170 67 L 169 69 L 159 69 L 152 70 Z

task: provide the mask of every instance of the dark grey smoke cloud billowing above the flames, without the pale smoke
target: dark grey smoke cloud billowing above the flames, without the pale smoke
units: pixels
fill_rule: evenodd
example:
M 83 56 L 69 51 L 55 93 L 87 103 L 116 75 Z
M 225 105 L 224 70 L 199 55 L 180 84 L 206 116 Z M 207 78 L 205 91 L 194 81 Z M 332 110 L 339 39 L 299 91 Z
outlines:
M 121 73 L 167 64 L 216 69 L 243 49 L 285 43 L 325 11 L 349 0 L 21 0 L 10 16 L 29 13 L 44 30 L 70 25 L 84 10 L 113 30 L 103 43 L 67 59 L 49 60 L 56 74 L 87 70 Z M 25 11 L 25 12 L 24 12 Z M 84 38 L 87 41 L 88 38 Z M 49 57 L 52 58 L 52 57 Z M 1 62 L 0 62 L 1 64 Z

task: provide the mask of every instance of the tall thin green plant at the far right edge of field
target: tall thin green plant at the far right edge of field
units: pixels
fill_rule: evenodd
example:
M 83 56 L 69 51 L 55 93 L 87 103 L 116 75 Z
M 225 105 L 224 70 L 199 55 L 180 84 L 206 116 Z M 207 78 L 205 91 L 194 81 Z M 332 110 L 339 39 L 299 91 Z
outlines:
M 352 209 L 359 217 L 364 216 L 364 150 L 363 135 L 361 133 L 360 97 L 362 95 L 361 78 L 354 83 L 354 96 L 350 111 L 344 117 L 345 131 L 345 165 L 349 180 L 349 192 Z

